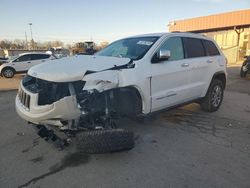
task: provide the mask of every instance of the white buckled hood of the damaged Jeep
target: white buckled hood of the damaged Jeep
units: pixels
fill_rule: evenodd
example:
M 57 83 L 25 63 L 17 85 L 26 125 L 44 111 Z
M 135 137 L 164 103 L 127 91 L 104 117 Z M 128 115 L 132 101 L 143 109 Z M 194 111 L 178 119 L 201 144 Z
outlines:
M 86 71 L 101 71 L 129 61 L 129 58 L 119 57 L 73 56 L 36 65 L 29 69 L 28 74 L 52 82 L 72 82 L 82 80 Z

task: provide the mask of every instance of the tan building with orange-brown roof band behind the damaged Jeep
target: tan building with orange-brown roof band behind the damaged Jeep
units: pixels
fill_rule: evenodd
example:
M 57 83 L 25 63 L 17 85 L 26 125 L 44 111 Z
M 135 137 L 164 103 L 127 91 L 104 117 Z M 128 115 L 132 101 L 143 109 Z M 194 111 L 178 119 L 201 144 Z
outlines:
M 169 31 L 202 33 L 216 40 L 229 63 L 250 55 L 250 9 L 172 21 Z

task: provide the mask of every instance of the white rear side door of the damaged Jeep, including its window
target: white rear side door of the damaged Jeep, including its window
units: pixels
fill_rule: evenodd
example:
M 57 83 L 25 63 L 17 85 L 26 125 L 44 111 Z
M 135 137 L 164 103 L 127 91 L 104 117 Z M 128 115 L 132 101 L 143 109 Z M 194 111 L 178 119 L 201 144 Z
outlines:
M 189 66 L 188 87 L 190 92 L 187 94 L 189 100 L 199 98 L 207 86 L 210 77 L 209 67 L 213 62 L 208 56 L 203 42 L 199 38 L 183 37 L 185 58 Z

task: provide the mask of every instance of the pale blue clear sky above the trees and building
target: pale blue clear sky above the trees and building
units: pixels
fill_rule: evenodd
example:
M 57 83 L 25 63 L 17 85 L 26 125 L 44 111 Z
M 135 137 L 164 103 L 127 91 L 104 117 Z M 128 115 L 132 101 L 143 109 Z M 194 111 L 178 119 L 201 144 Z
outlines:
M 169 21 L 250 8 L 250 0 L 0 0 L 0 40 L 113 41 L 167 32 Z

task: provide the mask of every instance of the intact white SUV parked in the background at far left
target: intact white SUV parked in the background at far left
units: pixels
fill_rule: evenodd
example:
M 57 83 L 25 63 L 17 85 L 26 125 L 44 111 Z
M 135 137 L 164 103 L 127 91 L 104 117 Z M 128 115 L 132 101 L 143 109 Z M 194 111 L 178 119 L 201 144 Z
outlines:
M 54 59 L 54 56 L 45 53 L 22 53 L 13 56 L 0 66 L 0 75 L 5 78 L 12 78 L 16 73 L 25 73 L 34 65 L 38 65 L 46 60 Z

